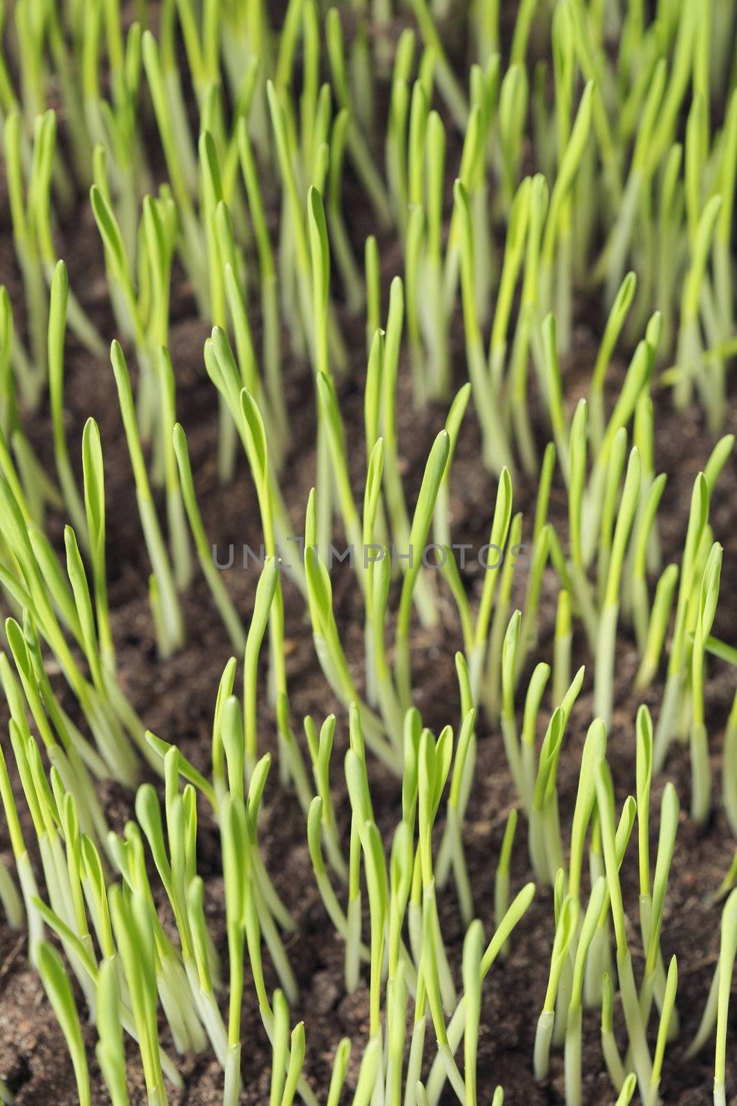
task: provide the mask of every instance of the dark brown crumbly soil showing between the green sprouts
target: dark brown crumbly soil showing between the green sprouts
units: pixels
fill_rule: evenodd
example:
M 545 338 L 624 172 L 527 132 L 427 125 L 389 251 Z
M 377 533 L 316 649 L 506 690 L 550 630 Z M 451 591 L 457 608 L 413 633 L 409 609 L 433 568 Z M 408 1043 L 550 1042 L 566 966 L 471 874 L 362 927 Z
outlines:
M 508 6 L 505 6 L 505 8 Z M 449 135 L 451 131 L 449 129 Z M 455 139 L 453 139 L 455 142 Z M 457 145 L 457 144 L 456 144 Z M 449 153 L 450 166 L 457 149 Z M 366 202 L 352 184 L 346 181 L 345 204 L 351 234 L 360 255 L 362 241 L 372 230 Z M 276 209 L 274 209 L 276 210 Z M 367 221 L 368 219 L 368 221 Z M 67 216 L 59 228 L 60 254 L 70 269 L 75 294 L 95 324 L 106 336 L 115 333 L 108 306 L 108 291 L 104 275 L 102 250 L 87 201 L 82 198 L 78 208 Z M 382 288 L 387 294 L 391 278 L 401 273 L 401 257 L 392 239 L 380 241 L 382 259 Z M 21 285 L 12 254 L 11 230 L 7 204 L 0 210 L 0 261 L 2 272 L 15 310 L 15 325 L 23 333 Z M 347 372 L 338 380 L 340 409 L 350 444 L 351 478 L 357 495 L 361 494 L 365 478 L 365 450 L 362 435 L 362 389 L 366 373 L 365 327 L 362 317 L 350 319 L 340 306 L 340 292 L 336 300 L 344 336 L 349 352 Z M 385 303 L 386 307 L 386 303 Z M 586 298 L 576 303 L 577 324 L 573 333 L 573 352 L 564 363 L 566 396 L 569 410 L 587 386 L 596 357 L 601 320 L 597 301 Z M 453 330 L 453 369 L 456 386 L 465 379 L 465 354 L 462 328 L 455 320 Z M 254 303 L 254 335 L 260 342 L 257 303 Z M 208 334 L 207 325 L 198 320 L 191 291 L 181 272 L 175 273 L 170 349 L 177 378 L 177 409 L 189 441 L 194 481 L 207 532 L 220 550 L 233 543 L 236 550 L 249 544 L 257 549 L 261 542 L 259 514 L 254 488 L 245 458 L 240 457 L 236 473 L 228 487 L 220 486 L 215 471 L 218 446 L 218 403 L 204 372 L 202 344 Z M 285 386 L 291 414 L 291 447 L 281 474 L 281 487 L 288 508 L 293 533 L 303 531 L 304 510 L 315 471 L 315 411 L 310 369 L 299 358 L 288 354 L 288 340 L 284 335 Z M 627 351 L 612 365 L 610 383 L 612 393 L 621 380 Z M 130 364 L 133 365 L 133 357 Z M 536 440 L 540 448 L 547 441 L 547 426 L 539 408 L 536 385 L 533 380 L 531 405 Z M 411 398 L 409 361 L 402 361 L 400 397 L 397 405 L 399 442 L 406 479 L 408 501 L 413 502 L 419 487 L 424 460 L 433 436 L 442 427 L 445 409 L 442 405 L 418 410 Z M 67 341 L 65 406 L 67 434 L 73 459 L 80 471 L 78 455 L 82 428 L 86 418 L 94 416 L 101 428 L 107 495 L 107 556 L 112 606 L 112 620 L 118 656 L 120 684 L 130 702 L 140 713 L 146 726 L 162 738 L 175 741 L 182 752 L 202 771 L 210 770 L 210 730 L 218 681 L 231 655 L 224 628 L 213 607 L 210 594 L 199 574 L 182 596 L 187 623 L 187 648 L 167 661 L 157 657 L 151 617 L 147 602 L 146 581 L 150 571 L 143 542 L 140 524 L 133 493 L 130 463 L 123 435 L 113 373 L 106 358 L 96 359 L 84 352 L 70 337 Z M 660 510 L 661 540 L 664 563 L 680 559 L 687 521 L 688 502 L 694 477 L 703 468 L 715 438 L 706 432 L 698 411 L 676 414 L 665 393 L 656 392 L 656 471 L 667 473 L 667 487 Z M 28 436 L 48 471 L 53 471 L 50 420 L 46 407 L 24 418 Z M 737 397 L 729 396 L 726 430 L 737 431 Z M 525 540 L 529 540 L 535 505 L 535 482 L 520 477 L 515 482 L 515 510 L 523 510 Z M 460 436 L 451 481 L 451 509 L 453 539 L 480 547 L 486 540 L 494 498 L 495 480 L 480 461 L 478 426 L 470 405 Z M 724 545 L 722 597 L 716 616 L 715 633 L 727 639 L 734 637 L 737 598 L 731 592 L 733 572 L 737 572 L 737 534 L 735 503 L 737 502 L 737 467 L 731 458 L 719 480 L 712 505 L 715 538 Z M 551 497 L 550 517 L 558 532 L 567 533 L 565 494 L 559 474 Z M 63 518 L 50 512 L 49 532 L 59 544 Z M 336 566 L 333 574 L 336 617 L 341 639 L 356 679 L 362 684 L 362 632 L 359 617 L 359 596 L 347 566 Z M 245 622 L 250 617 L 257 572 L 235 565 L 225 573 L 225 581 Z M 466 584 L 472 594 L 481 588 L 481 571 L 466 573 Z M 518 574 L 515 601 L 522 603 L 525 581 Z M 539 613 L 539 645 L 534 651 L 528 669 L 538 660 L 550 660 L 551 637 L 555 624 L 557 582 L 551 570 L 545 577 Z M 327 688 L 315 659 L 308 620 L 304 604 L 291 584 L 285 589 L 287 679 L 292 708 L 292 723 L 297 733 L 302 719 L 313 713 L 322 719 L 335 711 L 338 717 L 336 748 L 334 751 L 334 796 L 341 832 L 348 826 L 348 800 L 341 785 L 341 763 L 347 744 L 346 712 Z M 448 595 L 440 594 L 440 624 L 432 629 L 415 627 L 413 636 L 412 669 L 415 703 L 425 724 L 438 730 L 450 722 L 457 726 L 460 703 L 455 680 L 453 655 L 461 645 L 457 620 Z M 575 641 L 575 664 L 587 665 L 583 690 L 573 710 L 566 748 L 558 773 L 559 802 L 564 841 L 570 827 L 570 815 L 578 782 L 580 750 L 592 717 L 592 664 L 586 641 L 579 634 Z M 638 657 L 633 638 L 622 625 L 617 656 L 617 707 L 609 737 L 609 760 L 614 774 L 618 803 L 634 791 L 634 718 L 641 701 L 631 690 Z M 735 688 L 734 674 L 723 662 L 707 662 L 706 684 L 707 723 L 709 731 L 712 769 L 715 794 L 720 790 L 723 733 L 726 716 Z M 262 674 L 263 676 L 264 674 Z M 527 674 L 528 675 L 528 674 Z M 522 687 L 525 680 L 523 679 Z M 61 681 L 57 690 L 67 710 L 76 717 L 74 701 Z M 657 714 L 663 684 L 657 679 L 644 699 Z M 522 700 L 522 695 L 518 699 Z M 547 721 L 549 697 L 544 700 L 543 721 Z M 4 705 L 2 732 L 7 732 Z M 480 718 L 477 768 L 464 826 L 464 843 L 472 879 L 475 909 L 486 933 L 493 927 L 493 876 L 497 863 L 502 834 L 507 814 L 516 803 L 504 757 L 498 728 Z M 3 739 L 4 740 L 4 739 Z M 265 680 L 259 718 L 260 752 L 275 747 L 275 719 L 266 703 Z M 388 837 L 394 828 L 400 801 L 397 781 L 371 761 L 372 797 L 380 830 Z M 657 835 L 656 812 L 660 796 L 667 780 L 678 791 L 682 807 L 688 810 L 689 763 L 687 750 L 674 748 L 665 772 L 654 781 L 652 836 L 653 848 Z M 17 784 L 17 781 L 14 781 Z M 15 789 L 19 808 L 24 810 L 20 786 Z M 110 825 L 122 830 L 133 812 L 133 794 L 115 782 L 102 786 L 104 805 Z M 199 872 L 206 880 L 206 911 L 215 945 L 227 962 L 222 870 L 217 827 L 204 808 L 200 812 Z M 23 823 L 27 839 L 32 834 L 30 821 Z M 264 797 L 264 816 L 260 825 L 260 841 L 265 865 L 296 922 L 296 931 L 287 942 L 292 967 L 299 984 L 299 999 L 292 1011 L 293 1020 L 305 1019 L 307 1056 L 305 1074 L 323 1100 L 327 1093 L 334 1052 L 340 1037 L 354 1042 L 346 1087 L 355 1085 L 358 1060 L 368 1029 L 368 989 L 366 978 L 358 991 L 345 994 L 343 983 L 343 945 L 333 932 L 317 889 L 306 845 L 305 821 L 292 793 L 278 782 L 276 764 L 272 769 Z M 673 859 L 668 894 L 663 921 L 663 953 L 667 959 L 678 957 L 677 1008 L 681 1033 L 668 1046 L 662 1093 L 665 1102 L 674 1106 L 696 1106 L 710 1099 L 713 1079 L 713 1048 L 708 1045 L 694 1060 L 686 1060 L 685 1048 L 691 1041 L 706 1000 L 717 957 L 720 910 L 707 905 L 706 897 L 719 884 L 733 855 L 734 842 L 723 814 L 717 811 L 709 825 L 701 831 L 682 814 L 676 849 Z M 6 827 L 0 826 L 0 854 L 10 862 L 10 845 Z M 642 949 L 638 922 L 636 847 L 630 847 L 623 865 L 623 886 L 628 909 L 629 936 L 633 949 L 635 973 L 642 967 Z M 512 893 L 515 894 L 531 879 L 527 858 L 526 827 L 520 818 L 512 860 Z M 460 977 L 463 927 L 452 884 L 441 895 L 441 924 L 454 970 Z M 161 914 L 166 916 L 161 901 Z M 506 960 L 498 961 L 484 984 L 484 1009 L 478 1054 L 480 1097 L 489 1100 L 493 1088 L 501 1083 L 505 1088 L 505 1103 L 510 1106 L 525 1104 L 555 1104 L 564 1102 L 562 1054 L 555 1052 L 550 1081 L 538 1086 L 531 1072 L 533 1041 L 537 1016 L 545 992 L 549 952 L 552 941 L 551 893 L 541 888 L 525 918 L 517 927 Z M 273 990 L 276 978 L 269 968 L 267 987 Z M 77 1000 L 83 1010 L 82 998 Z M 93 1102 L 106 1103 L 107 1096 L 94 1061 L 92 1047 L 94 1031 L 86 1027 L 90 1044 Z M 264 1103 L 269 1098 L 271 1052 L 263 1032 L 248 971 L 243 1010 L 243 1076 L 244 1104 Z M 429 1027 L 428 1037 L 432 1030 Z M 733 1003 L 729 1040 L 737 1040 L 737 1004 Z M 162 1041 L 171 1042 L 162 1029 Z M 431 1048 L 428 1047 L 428 1054 Z M 734 1050 L 733 1050 L 734 1055 Z M 220 1103 L 222 1073 L 208 1051 L 200 1056 L 183 1057 L 181 1071 L 186 1089 L 181 1095 L 170 1093 L 170 1102 L 183 1106 L 209 1106 Z M 613 1102 L 611 1084 L 604 1071 L 599 1045 L 599 1014 L 588 1011 L 585 1016 L 583 1103 Z M 728 1064 L 728 1091 L 737 1093 L 737 1064 Z M 40 980 L 29 966 L 24 933 L 10 930 L 0 918 L 0 1076 L 15 1094 L 18 1106 L 73 1106 L 77 1100 L 71 1062 L 62 1033 L 45 1000 Z M 129 1063 L 130 1100 L 143 1106 L 146 1100 L 139 1065 Z M 449 1094 L 448 1102 L 453 1100 Z

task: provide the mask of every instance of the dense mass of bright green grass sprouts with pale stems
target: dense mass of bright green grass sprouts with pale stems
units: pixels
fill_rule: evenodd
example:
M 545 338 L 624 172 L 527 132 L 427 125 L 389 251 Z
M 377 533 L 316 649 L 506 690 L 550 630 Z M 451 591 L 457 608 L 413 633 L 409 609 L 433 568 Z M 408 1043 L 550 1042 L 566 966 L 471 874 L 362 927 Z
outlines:
M 0 797 L 14 870 L 0 859 L 0 904 L 13 929 L 28 930 L 80 1104 L 92 1102 L 86 1018 L 113 1106 L 131 1100 L 126 1039 L 149 1106 L 177 1100 L 172 1053 L 204 1050 L 222 1067 L 223 1106 L 238 1106 L 252 987 L 272 1048 L 271 1106 L 338 1106 L 344 1084 L 354 1106 L 502 1106 L 503 1088 L 477 1076 L 482 1024 L 494 1033 L 483 994 L 514 957 L 537 894 L 554 937 L 537 950 L 545 997 L 529 1011 L 534 1054 L 520 1063 L 545 1082 L 560 1050 L 567 1106 L 581 1106 L 583 1022 L 600 1019 L 611 1100 L 627 1106 L 636 1092 L 657 1106 L 680 1032 L 676 957 L 663 954 L 680 803 L 667 782 L 653 848 L 651 786 L 675 743 L 688 750 L 691 818 L 705 826 L 720 804 L 737 833 L 737 695 L 720 794 L 705 702 L 709 665 L 737 665 L 737 649 L 713 635 L 723 549 L 710 511 L 734 451 L 723 432 L 737 355 L 734 7 L 659 0 L 650 19 L 640 0 L 522 0 L 510 43 L 498 0 L 289 0 L 278 28 L 264 0 L 149 7 L 140 0 L 130 23 L 118 0 L 18 0 L 2 13 L 2 161 L 24 326 L 1 288 L 0 680 L 10 721 Z M 461 69 L 449 29 L 467 40 Z M 59 253 L 62 242 L 73 248 L 65 231 L 81 191 L 104 260 L 114 326 L 104 336 Z M 357 250 L 365 221 L 375 233 Z M 242 457 L 255 489 L 264 556 L 248 612 L 213 559 L 217 535 L 178 421 L 170 300 L 182 280 L 210 331 L 202 362 L 219 405 L 219 493 L 243 479 Z M 575 380 L 582 293 L 597 304 L 600 340 Z M 360 373 L 356 328 L 361 346 L 366 338 Z M 69 336 L 98 366 L 112 340 L 105 371 L 160 662 L 197 643 L 182 597 L 198 573 L 211 605 L 197 619 L 220 618 L 232 645 L 200 768 L 176 733 L 147 730 L 118 678 L 104 448 L 92 418 L 81 442 L 67 434 Z M 285 466 L 297 420 L 313 418 L 287 401 L 295 364 L 309 366 L 314 384 L 315 472 L 301 555 L 286 566 Z M 362 393 L 358 490 L 340 399 L 351 374 Z M 656 470 L 655 441 L 671 393 L 678 410 L 703 410 L 712 451 L 693 481 L 682 549 L 665 563 L 668 473 Z M 412 495 L 398 415 L 410 394 L 444 418 Z M 41 409 L 51 472 L 24 429 Z M 472 419 L 488 503 L 475 589 L 450 508 Z M 520 502 L 534 503 L 529 518 Z M 63 549 L 50 518 L 66 523 Z M 339 538 L 356 554 L 339 571 L 352 574 L 360 664 L 334 604 Z M 325 717 L 295 719 L 291 708 L 287 588 L 335 705 Z M 548 660 L 544 595 L 556 604 Z M 446 690 L 460 710 L 436 733 L 415 705 L 418 624 L 454 657 L 457 689 Z M 621 669 L 623 640 L 635 664 Z M 631 794 L 619 803 L 607 743 L 628 684 L 630 703 L 656 706 L 654 718 L 642 702 L 623 723 Z M 568 737 L 589 690 L 578 759 Z M 265 701 L 274 734 L 264 733 Z M 488 932 L 464 845 L 482 741 L 495 743 L 512 794 L 486 864 Z M 343 942 L 345 990 L 368 981 L 359 1063 L 350 1065 L 356 1042 L 336 1041 L 326 1087 L 307 1077 L 310 1027 L 292 1013 L 296 924 L 259 839 L 273 759 Z M 578 774 L 570 813 L 559 804 L 561 760 Z M 381 785 L 396 787 L 390 828 L 375 816 L 377 762 Z M 130 792 L 122 833 L 98 796 L 106 779 Z M 222 947 L 198 873 L 198 835 L 212 832 L 198 828 L 203 814 L 220 837 Z M 533 875 L 518 887 L 515 849 L 526 849 Z M 630 864 L 638 926 L 620 875 Z M 713 897 L 719 956 L 689 1046 L 715 1048 L 715 1106 L 727 1100 L 735 883 L 737 854 Z M 455 959 L 440 896 L 465 931 Z M 2 1079 L 0 1102 L 13 1102 Z

